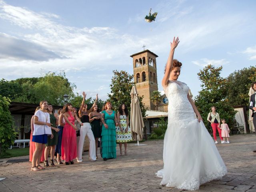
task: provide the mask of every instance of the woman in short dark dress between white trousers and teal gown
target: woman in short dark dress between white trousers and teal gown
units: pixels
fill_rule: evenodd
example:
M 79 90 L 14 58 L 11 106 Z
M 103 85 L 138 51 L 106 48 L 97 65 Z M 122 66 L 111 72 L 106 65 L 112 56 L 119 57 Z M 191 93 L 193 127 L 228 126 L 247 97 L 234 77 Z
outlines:
M 93 111 L 89 114 L 89 121 L 92 126 L 92 132 L 95 138 L 95 147 L 96 147 L 96 159 L 98 159 L 97 149 L 98 149 L 98 139 L 101 136 L 101 114 L 99 113 L 98 105 L 95 104 Z

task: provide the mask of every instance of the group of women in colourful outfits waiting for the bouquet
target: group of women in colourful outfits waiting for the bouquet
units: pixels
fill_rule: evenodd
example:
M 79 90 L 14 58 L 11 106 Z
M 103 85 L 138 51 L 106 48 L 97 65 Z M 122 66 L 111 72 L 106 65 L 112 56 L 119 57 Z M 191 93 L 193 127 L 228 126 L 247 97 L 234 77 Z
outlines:
M 116 158 L 116 142 L 119 142 L 120 155 L 122 155 L 122 143 L 124 143 L 124 154 L 127 155 L 127 142 L 132 140 L 129 124 L 128 109 L 125 104 L 121 104 L 118 113 L 112 110 L 112 104 L 106 102 L 102 112 L 99 112 L 97 100 L 88 110 L 84 103 L 86 98 L 83 92 L 83 100 L 79 116 L 76 108 L 67 103 L 63 109 L 58 110 L 58 115 L 54 115 L 51 104 L 46 100 L 40 102 L 36 108 L 34 116 L 31 118 L 30 136 L 30 161 L 32 171 L 39 171 L 44 167 L 55 166 L 54 156 L 58 164 L 74 164 L 82 162 L 82 152 L 84 140 L 87 135 L 90 140 L 90 160 L 98 158 L 98 139 L 101 138 L 102 158 L 107 160 Z M 75 121 L 80 124 L 80 129 L 75 125 Z M 78 131 L 79 130 L 79 131 Z M 78 132 L 80 133 L 77 142 Z M 48 155 L 50 151 L 50 165 Z M 44 167 L 40 162 L 44 161 Z

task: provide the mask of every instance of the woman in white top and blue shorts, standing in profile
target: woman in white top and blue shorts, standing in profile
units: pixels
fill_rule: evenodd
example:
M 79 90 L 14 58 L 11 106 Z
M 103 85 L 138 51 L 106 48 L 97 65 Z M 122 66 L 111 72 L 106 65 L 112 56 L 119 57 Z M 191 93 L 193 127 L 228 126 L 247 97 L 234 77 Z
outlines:
M 50 124 L 50 115 L 47 112 L 48 102 L 43 100 L 40 102 L 40 110 L 34 114 L 34 132 L 32 141 L 35 142 L 36 150 L 32 158 L 32 171 L 39 171 L 44 169 L 40 166 L 40 158 L 43 150 L 43 145 L 47 143 L 48 135 L 52 135 Z

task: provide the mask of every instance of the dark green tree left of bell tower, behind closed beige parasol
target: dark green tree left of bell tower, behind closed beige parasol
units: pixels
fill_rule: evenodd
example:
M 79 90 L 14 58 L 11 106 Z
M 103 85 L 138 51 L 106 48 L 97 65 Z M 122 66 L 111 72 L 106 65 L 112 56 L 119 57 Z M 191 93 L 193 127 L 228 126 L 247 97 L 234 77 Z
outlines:
M 135 85 L 133 81 L 133 76 L 128 74 L 126 71 L 113 71 L 114 75 L 111 79 L 110 89 L 111 92 L 108 94 L 108 101 L 112 103 L 114 110 L 118 110 L 120 104 L 125 103 L 128 110 L 130 111 L 131 106 L 131 96 L 130 92 L 132 86 Z M 140 101 L 140 109 L 142 112 L 142 117 L 146 117 L 146 109 L 144 103 L 142 102 L 143 96 L 138 96 Z

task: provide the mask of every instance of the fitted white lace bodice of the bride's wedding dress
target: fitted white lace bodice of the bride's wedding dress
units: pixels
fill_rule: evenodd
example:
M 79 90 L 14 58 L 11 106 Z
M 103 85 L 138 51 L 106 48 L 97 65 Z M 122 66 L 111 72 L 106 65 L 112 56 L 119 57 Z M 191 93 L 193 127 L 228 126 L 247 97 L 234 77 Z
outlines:
M 169 81 L 164 88 L 168 98 L 168 121 L 188 122 L 195 119 L 195 113 L 188 100 L 189 87 L 183 82 Z

